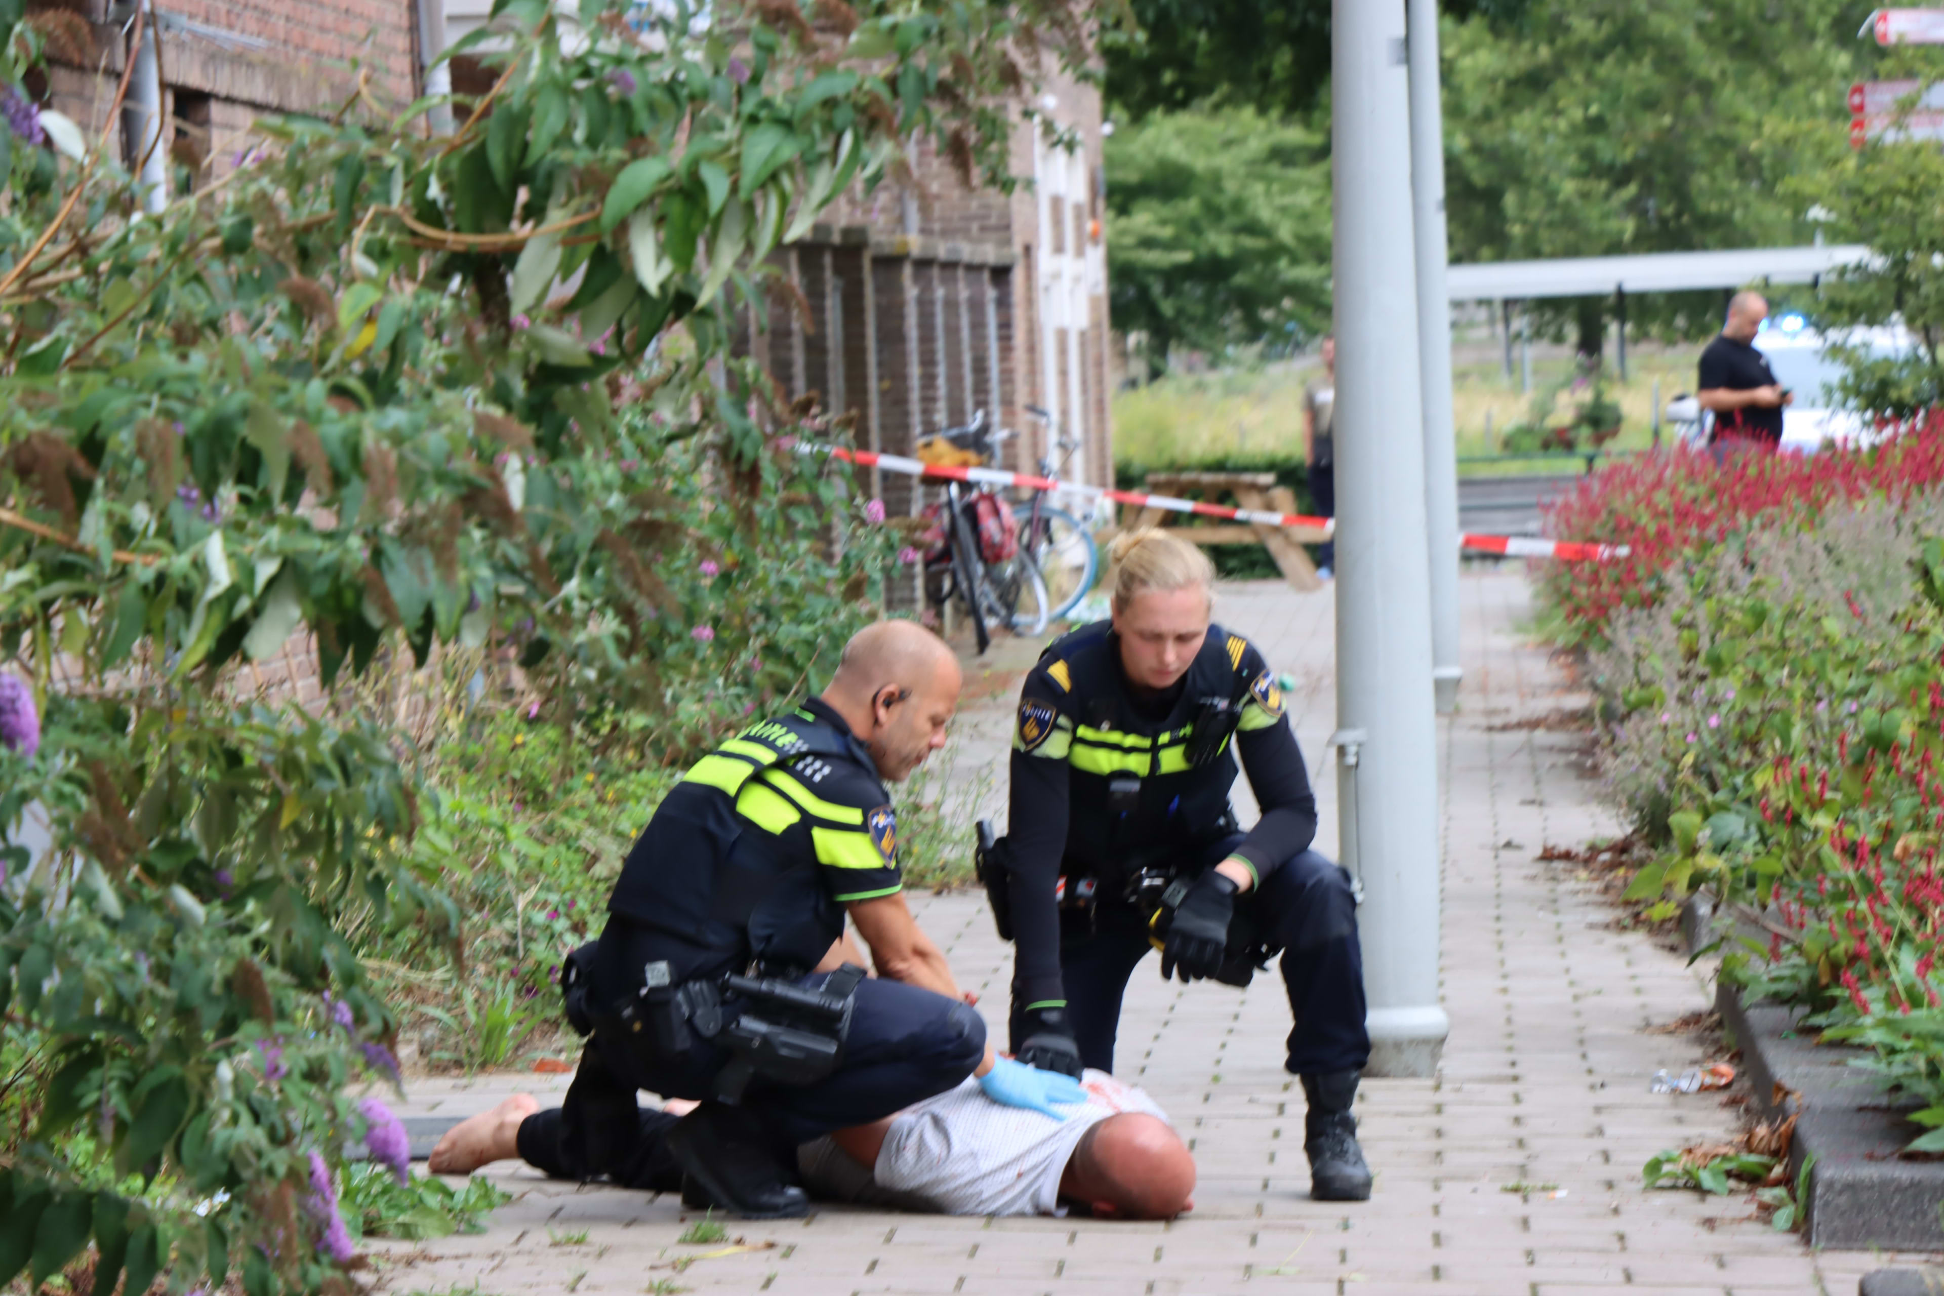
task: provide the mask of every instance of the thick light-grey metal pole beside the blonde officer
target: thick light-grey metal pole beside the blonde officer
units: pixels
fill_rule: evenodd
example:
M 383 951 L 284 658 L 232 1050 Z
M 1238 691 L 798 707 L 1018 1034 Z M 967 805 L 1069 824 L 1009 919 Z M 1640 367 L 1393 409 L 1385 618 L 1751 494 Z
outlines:
M 1336 0 L 1337 822 L 1355 824 L 1374 1076 L 1429 1076 L 1439 1005 L 1439 729 L 1411 247 L 1404 6 Z M 1359 812 L 1359 806 L 1363 812 Z

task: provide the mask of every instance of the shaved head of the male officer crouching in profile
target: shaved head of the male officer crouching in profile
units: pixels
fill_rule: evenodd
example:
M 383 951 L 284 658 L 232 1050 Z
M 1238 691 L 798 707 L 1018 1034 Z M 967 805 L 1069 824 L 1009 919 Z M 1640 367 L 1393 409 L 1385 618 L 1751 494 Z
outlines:
M 838 659 L 824 705 L 871 752 L 879 777 L 902 783 L 945 746 L 964 672 L 951 647 L 916 622 L 873 622 Z

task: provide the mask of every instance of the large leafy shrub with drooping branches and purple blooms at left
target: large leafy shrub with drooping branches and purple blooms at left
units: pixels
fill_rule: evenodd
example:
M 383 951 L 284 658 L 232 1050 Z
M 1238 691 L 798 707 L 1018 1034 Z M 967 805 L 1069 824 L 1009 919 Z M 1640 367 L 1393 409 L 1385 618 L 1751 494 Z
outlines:
M 0 830 L 39 802 L 56 847 L 0 853 L 0 1284 L 93 1242 L 103 1296 L 344 1290 L 344 1086 L 395 1065 L 344 933 L 461 921 L 399 734 L 332 701 L 375 661 L 511 645 L 564 729 L 680 717 L 710 653 L 752 698 L 745 651 L 797 680 L 869 606 L 883 540 L 793 447 L 838 429 L 731 311 L 918 138 L 1003 179 L 1015 58 L 1077 66 L 1081 16 L 811 14 L 643 35 L 583 0 L 562 41 L 500 0 L 451 138 L 360 89 L 140 220 L 103 142 L 0 128 L 0 663 L 47 713 L 0 744 Z M 239 665 L 299 630 L 327 701 L 257 703 Z

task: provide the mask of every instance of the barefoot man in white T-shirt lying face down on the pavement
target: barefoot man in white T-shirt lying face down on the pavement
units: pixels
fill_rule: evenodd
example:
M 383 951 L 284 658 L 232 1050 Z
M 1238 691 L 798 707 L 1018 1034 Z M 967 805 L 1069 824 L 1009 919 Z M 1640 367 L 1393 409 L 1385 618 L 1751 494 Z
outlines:
M 797 1148 L 803 1185 L 818 1201 L 945 1214 L 1063 1214 L 1164 1220 L 1194 1207 L 1196 1162 L 1166 1115 L 1137 1088 L 1089 1071 L 1087 1102 L 1056 1111 L 1003 1108 L 976 1080 L 898 1115 Z M 686 1104 L 642 1109 L 638 1164 L 614 1176 L 622 1187 L 673 1193 L 682 1172 L 663 1135 Z M 513 1094 L 445 1133 L 432 1150 L 434 1174 L 470 1174 L 496 1160 L 554 1146 L 558 1109 Z M 544 1156 L 544 1152 L 538 1152 Z

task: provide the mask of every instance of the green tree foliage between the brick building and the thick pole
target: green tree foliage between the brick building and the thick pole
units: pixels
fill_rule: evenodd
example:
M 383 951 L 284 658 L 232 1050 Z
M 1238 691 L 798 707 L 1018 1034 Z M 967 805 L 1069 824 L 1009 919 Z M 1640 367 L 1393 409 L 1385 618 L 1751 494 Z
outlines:
M 1114 324 L 1149 359 L 1330 321 L 1322 136 L 1252 109 L 1155 113 L 1106 146 Z

